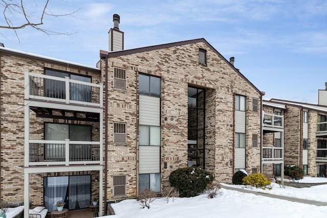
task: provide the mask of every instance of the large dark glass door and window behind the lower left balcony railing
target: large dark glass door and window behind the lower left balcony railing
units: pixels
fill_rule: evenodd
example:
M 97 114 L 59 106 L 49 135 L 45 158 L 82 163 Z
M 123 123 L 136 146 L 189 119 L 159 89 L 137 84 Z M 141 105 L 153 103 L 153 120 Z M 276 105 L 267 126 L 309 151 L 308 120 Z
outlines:
M 92 141 L 91 126 L 69 124 L 44 124 L 44 140 L 65 141 Z M 65 144 L 46 143 L 44 159 L 63 161 L 65 159 Z M 69 144 L 69 160 L 81 161 L 91 159 L 90 144 Z

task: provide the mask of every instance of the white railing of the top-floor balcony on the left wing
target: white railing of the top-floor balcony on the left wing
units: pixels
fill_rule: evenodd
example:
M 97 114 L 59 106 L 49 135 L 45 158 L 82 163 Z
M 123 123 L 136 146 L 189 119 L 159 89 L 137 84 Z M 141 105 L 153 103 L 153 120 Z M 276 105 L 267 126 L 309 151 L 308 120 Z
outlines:
M 103 84 L 25 72 L 25 98 L 103 106 Z

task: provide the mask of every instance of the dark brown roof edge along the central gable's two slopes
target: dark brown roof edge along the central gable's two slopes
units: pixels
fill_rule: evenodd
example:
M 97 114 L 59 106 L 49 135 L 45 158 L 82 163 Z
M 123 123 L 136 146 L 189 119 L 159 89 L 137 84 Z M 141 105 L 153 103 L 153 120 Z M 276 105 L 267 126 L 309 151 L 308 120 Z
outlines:
M 257 92 L 261 94 L 261 91 L 256 88 L 253 83 L 251 83 L 235 66 L 233 66 L 229 61 L 224 58 L 209 42 L 207 42 L 204 38 L 198 38 L 198 39 L 191 39 L 191 40 L 185 40 L 185 41 L 179 41 L 179 42 L 171 42 L 167 44 L 159 44 L 159 45 L 152 45 L 152 46 L 147 46 L 147 47 L 139 47 L 137 49 L 130 49 L 130 50 L 122 50 L 122 51 L 115 51 L 115 52 L 106 52 L 103 50 L 100 50 L 100 58 L 114 58 L 118 56 L 123 56 L 123 55 L 131 55 L 135 53 L 141 53 L 141 52 L 149 52 L 153 50 L 158 50 L 158 49 L 166 49 L 168 47 L 173 47 L 173 46 L 181 46 L 181 45 L 186 45 L 186 44 L 191 44 L 191 43 L 198 43 L 198 42 L 203 42 L 205 43 L 208 47 L 210 47 L 222 60 L 224 60 L 237 74 L 239 74 L 245 81 L 247 81 Z

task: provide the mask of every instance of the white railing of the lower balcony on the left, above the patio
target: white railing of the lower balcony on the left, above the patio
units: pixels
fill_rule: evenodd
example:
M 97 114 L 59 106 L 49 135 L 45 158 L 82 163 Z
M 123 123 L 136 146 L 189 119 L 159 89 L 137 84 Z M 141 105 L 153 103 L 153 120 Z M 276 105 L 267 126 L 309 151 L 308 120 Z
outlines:
M 30 166 L 63 164 L 100 164 L 100 142 L 30 140 Z

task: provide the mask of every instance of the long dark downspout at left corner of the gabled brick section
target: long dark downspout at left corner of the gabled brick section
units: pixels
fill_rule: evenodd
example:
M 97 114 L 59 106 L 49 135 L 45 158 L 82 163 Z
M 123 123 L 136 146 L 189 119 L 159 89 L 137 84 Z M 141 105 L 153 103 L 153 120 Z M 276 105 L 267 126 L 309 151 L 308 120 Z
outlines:
M 104 106 L 104 114 L 105 114 L 105 154 L 104 154 L 104 199 L 107 202 L 107 181 L 108 181 L 108 56 L 105 57 L 105 106 Z M 104 214 L 107 215 L 107 205 L 105 204 Z

